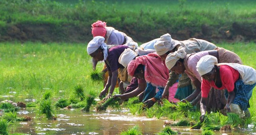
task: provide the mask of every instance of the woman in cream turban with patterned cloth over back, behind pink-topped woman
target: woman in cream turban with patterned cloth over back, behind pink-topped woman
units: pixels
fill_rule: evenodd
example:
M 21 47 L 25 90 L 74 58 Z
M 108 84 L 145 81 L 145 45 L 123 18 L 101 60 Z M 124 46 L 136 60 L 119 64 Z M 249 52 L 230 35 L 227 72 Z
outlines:
M 163 61 L 165 61 L 165 58 L 169 53 L 175 52 L 176 50 L 178 50 L 179 47 L 184 47 L 187 54 L 192 54 L 204 50 L 213 50 L 216 48 L 216 45 L 208 41 L 196 38 L 191 38 L 184 41 L 177 41 L 173 40 L 171 38 L 171 35 L 168 33 L 161 36 L 160 40 L 154 44 L 156 53 L 161 57 Z M 179 82 L 175 98 L 181 100 L 192 93 L 191 81 L 186 74 L 181 74 L 181 76 L 179 77 L 178 74 L 170 73 L 169 76 L 170 77 L 167 84 L 165 85 L 165 90 L 163 92 L 163 98 L 168 97 L 169 87 L 173 86 L 173 84 L 176 83 L 177 79 L 179 79 Z

